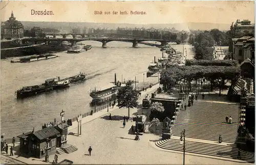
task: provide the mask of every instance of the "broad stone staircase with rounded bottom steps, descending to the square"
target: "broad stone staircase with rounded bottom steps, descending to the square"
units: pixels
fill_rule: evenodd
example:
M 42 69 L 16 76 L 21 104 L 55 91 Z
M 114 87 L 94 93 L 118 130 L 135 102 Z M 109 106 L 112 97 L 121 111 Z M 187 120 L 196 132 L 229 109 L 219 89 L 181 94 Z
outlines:
M 187 100 L 186 104 L 188 105 Z M 155 144 L 164 150 L 183 151 L 180 136 L 185 129 L 186 152 L 225 159 L 237 158 L 236 141 L 240 112 L 240 104 L 194 100 L 193 106 L 187 107 L 186 111 L 184 105 L 183 109 L 180 109 L 172 137 Z M 226 123 L 226 116 L 231 116 L 232 124 Z M 218 143 L 220 134 L 223 142 L 221 144 Z M 241 150 L 241 160 L 254 161 L 254 154 Z

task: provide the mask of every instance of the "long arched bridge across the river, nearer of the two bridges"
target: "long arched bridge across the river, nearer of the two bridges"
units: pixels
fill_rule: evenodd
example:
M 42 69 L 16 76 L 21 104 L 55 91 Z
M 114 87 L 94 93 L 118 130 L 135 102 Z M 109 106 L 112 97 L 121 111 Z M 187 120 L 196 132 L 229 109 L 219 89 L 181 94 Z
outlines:
M 34 44 L 37 44 L 37 42 L 45 42 L 47 44 L 50 44 L 50 42 L 52 41 L 58 42 L 59 45 L 61 45 L 62 41 L 68 41 L 71 43 L 72 46 L 75 46 L 76 43 L 80 41 L 98 41 L 98 42 L 102 42 L 102 47 L 106 47 L 106 43 L 111 41 L 132 42 L 133 47 L 137 47 L 138 43 L 145 42 L 145 41 L 161 42 L 161 45 L 159 46 L 163 46 L 168 42 L 176 42 L 177 44 L 181 43 L 181 40 L 154 40 L 154 39 L 105 39 L 105 38 L 25 38 L 25 39 L 22 39 L 22 42 L 24 44 L 28 42 L 33 42 Z

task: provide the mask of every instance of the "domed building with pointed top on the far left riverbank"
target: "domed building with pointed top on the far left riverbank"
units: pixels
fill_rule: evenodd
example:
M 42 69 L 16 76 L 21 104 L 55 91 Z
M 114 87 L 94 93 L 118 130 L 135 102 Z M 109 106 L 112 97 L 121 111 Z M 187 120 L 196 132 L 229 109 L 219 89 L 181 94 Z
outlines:
M 13 12 L 9 20 L 1 23 L 1 38 L 23 38 L 24 26 L 22 22 L 17 21 Z

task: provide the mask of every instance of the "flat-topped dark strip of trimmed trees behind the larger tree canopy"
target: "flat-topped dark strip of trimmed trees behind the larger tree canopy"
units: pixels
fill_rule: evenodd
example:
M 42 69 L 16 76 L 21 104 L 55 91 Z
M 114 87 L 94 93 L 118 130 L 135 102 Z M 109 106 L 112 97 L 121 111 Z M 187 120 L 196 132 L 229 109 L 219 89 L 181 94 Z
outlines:
M 238 66 L 237 60 L 186 60 L 186 66 Z

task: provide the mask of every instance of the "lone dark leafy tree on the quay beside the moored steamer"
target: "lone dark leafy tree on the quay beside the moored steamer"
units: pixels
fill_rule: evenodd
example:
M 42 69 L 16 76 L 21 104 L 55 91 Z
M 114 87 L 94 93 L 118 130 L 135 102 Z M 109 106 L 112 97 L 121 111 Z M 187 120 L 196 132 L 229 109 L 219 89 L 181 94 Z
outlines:
M 117 106 L 119 108 L 128 108 L 128 117 L 130 118 L 130 108 L 138 106 L 138 92 L 133 90 L 132 81 L 128 80 L 125 87 L 121 87 L 117 94 Z

